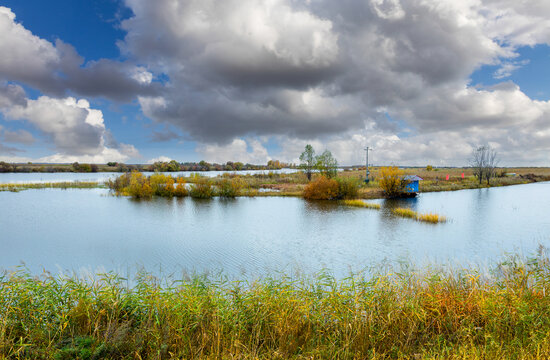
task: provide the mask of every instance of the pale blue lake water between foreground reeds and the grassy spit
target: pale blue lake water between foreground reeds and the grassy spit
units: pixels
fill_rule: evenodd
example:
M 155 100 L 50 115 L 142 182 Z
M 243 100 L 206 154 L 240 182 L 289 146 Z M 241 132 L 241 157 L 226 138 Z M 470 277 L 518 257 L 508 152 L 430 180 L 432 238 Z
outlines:
M 0 182 L 5 182 L 0 175 Z M 107 190 L 0 192 L 0 268 L 218 272 L 257 277 L 381 264 L 486 265 L 550 246 L 550 183 L 377 200 L 382 210 L 298 198 L 136 201 Z M 395 217 L 411 207 L 444 224 Z

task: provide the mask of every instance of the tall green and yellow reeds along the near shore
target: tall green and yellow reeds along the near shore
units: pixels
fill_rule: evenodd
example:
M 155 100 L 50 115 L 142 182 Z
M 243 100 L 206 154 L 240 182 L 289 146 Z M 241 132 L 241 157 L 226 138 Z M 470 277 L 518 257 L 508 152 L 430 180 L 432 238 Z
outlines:
M 337 281 L 0 277 L 0 358 L 544 359 L 550 265 Z

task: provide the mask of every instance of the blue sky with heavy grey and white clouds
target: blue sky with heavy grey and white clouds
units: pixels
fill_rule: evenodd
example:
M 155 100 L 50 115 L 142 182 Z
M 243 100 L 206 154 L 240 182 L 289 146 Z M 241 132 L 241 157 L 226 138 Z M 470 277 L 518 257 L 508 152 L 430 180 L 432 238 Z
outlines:
M 0 0 L 0 161 L 550 166 L 548 0 Z

